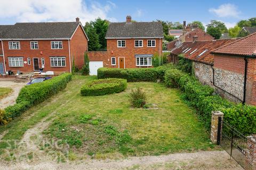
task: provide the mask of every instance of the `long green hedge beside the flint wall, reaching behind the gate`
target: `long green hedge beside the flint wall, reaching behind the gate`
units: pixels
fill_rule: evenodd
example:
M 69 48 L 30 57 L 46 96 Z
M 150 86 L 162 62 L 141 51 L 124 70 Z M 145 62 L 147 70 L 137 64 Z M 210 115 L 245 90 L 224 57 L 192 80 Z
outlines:
M 256 133 L 256 107 L 234 104 L 219 95 L 212 95 L 213 89 L 203 86 L 194 77 L 177 69 L 165 72 L 164 82 L 167 87 L 179 87 L 185 94 L 189 103 L 195 106 L 207 128 L 211 125 L 211 112 L 221 111 L 225 121 L 233 125 L 244 135 Z

